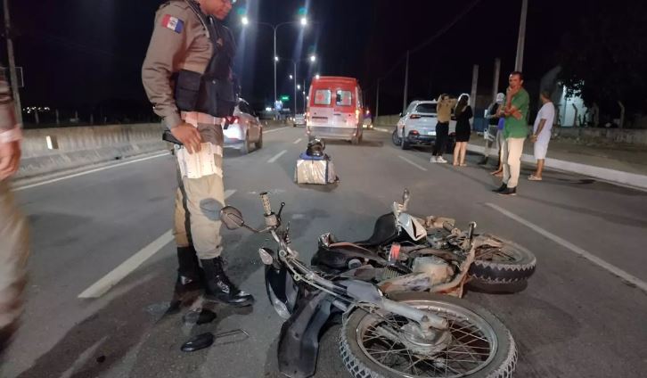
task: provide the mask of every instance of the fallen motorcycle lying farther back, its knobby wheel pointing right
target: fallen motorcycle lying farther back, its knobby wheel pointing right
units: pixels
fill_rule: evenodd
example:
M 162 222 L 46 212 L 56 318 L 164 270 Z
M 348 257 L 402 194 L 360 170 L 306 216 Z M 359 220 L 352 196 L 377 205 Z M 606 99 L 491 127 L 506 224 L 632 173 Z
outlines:
M 520 292 L 535 272 L 536 258 L 520 245 L 492 234 L 462 231 L 455 220 L 407 213 L 411 195 L 375 222 L 361 242 L 338 242 L 323 234 L 311 264 L 327 273 L 377 283 L 384 292 L 430 291 L 463 296 L 463 284 L 483 292 Z

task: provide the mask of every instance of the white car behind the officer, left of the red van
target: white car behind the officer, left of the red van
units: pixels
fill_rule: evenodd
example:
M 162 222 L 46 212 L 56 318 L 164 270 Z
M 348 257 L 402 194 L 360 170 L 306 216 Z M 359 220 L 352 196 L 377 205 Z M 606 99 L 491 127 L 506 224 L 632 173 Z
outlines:
M 242 154 L 263 148 L 263 124 L 245 100 L 239 99 L 233 117 L 223 120 L 223 134 L 225 145 L 238 147 Z

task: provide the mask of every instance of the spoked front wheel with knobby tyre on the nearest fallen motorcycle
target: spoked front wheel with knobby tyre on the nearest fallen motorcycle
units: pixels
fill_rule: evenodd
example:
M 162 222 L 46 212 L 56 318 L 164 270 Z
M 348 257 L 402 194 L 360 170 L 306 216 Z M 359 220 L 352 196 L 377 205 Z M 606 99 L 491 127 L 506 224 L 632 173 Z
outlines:
M 429 292 L 399 293 L 390 299 L 446 318 L 448 337 L 441 343 L 409 339 L 411 333 L 405 331 L 409 321 L 404 317 L 356 308 L 340 333 L 340 354 L 354 377 L 512 376 L 517 364 L 512 334 L 485 308 Z M 394 334 L 400 335 L 396 341 Z

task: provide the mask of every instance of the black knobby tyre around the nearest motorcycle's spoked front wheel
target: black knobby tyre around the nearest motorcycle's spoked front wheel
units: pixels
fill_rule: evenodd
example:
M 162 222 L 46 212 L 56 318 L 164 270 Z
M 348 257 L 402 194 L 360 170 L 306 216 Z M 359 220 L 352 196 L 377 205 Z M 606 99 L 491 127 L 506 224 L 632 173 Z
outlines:
M 422 293 L 422 292 L 405 292 L 405 293 L 400 293 L 398 295 L 409 296 L 409 295 L 417 295 L 417 294 L 438 296 L 438 294 L 430 294 L 430 293 Z M 464 300 L 455 299 L 453 297 L 445 297 L 445 298 L 448 301 L 452 301 L 452 302 L 459 301 L 458 303 L 460 303 L 462 306 L 464 306 L 465 304 Z M 392 299 L 396 300 L 395 298 L 392 298 Z M 466 307 L 471 308 L 471 307 L 477 307 L 477 306 L 471 304 L 470 306 L 466 306 Z M 494 315 L 489 314 L 489 312 L 487 312 L 483 308 L 480 308 L 480 311 L 483 311 L 486 314 L 488 314 L 487 317 L 492 316 L 498 323 L 500 323 L 500 321 L 496 319 Z M 479 315 L 483 316 L 485 314 L 479 313 Z M 341 359 L 344 362 L 344 366 L 346 366 L 346 368 L 348 369 L 348 372 L 354 378 L 400 378 L 402 377 L 402 375 L 399 375 L 399 374 L 385 375 L 385 374 L 376 372 L 373 370 L 372 367 L 364 364 L 364 361 L 362 361 L 361 358 L 355 356 L 355 354 L 353 353 L 353 350 L 351 349 L 350 343 L 348 342 L 348 337 L 347 337 L 349 329 L 354 328 L 352 325 L 350 327 L 348 326 L 348 323 L 350 323 L 349 322 L 350 316 L 352 316 L 352 314 L 347 314 L 345 316 L 348 316 L 348 318 L 346 318 L 345 321 L 343 322 L 343 326 L 340 331 L 339 347 L 340 347 Z M 514 373 L 514 370 L 517 366 L 517 360 L 518 360 L 517 347 L 514 342 L 514 339 L 512 338 L 512 333 L 510 333 L 510 331 L 508 331 L 507 329 L 505 329 L 505 333 L 508 339 L 507 344 L 509 345 L 509 348 L 507 349 L 507 353 L 504 355 L 504 357 L 501 358 L 500 365 L 494 371 L 477 372 L 476 374 L 469 375 L 468 376 L 469 378 L 512 378 L 512 374 Z

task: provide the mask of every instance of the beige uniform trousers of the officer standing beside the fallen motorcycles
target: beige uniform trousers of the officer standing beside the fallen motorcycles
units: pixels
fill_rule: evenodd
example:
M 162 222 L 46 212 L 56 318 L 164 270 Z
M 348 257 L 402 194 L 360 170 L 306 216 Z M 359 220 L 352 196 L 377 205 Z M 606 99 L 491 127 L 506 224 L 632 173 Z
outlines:
M 220 256 L 223 250 L 219 217 L 220 210 L 225 206 L 225 184 L 222 174 L 225 138 L 220 119 L 209 123 L 201 123 L 203 119 L 184 119 L 187 123 L 198 126 L 203 143 L 210 142 L 216 146 L 215 160 L 219 174 L 189 178 L 181 177 L 179 168 L 177 169 L 178 188 L 173 234 L 178 247 L 193 245 L 199 259 L 213 259 Z

